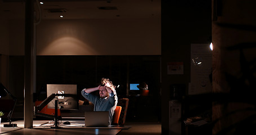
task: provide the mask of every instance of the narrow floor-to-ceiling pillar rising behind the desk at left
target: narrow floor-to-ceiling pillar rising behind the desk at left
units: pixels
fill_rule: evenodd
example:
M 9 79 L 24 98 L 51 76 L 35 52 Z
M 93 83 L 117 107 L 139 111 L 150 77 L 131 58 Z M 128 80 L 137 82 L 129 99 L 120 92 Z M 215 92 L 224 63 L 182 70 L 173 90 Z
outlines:
M 33 0 L 25 2 L 25 71 L 24 71 L 24 128 L 33 127 Z

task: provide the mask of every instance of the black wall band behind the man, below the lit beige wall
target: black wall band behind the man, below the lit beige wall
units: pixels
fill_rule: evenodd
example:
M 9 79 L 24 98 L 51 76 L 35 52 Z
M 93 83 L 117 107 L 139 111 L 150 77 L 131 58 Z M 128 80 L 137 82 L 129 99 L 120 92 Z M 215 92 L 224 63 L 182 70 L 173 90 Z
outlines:
M 158 93 L 160 56 L 37 56 L 37 92 L 46 84 L 78 84 L 96 87 L 109 78 L 120 93 L 127 94 L 127 82 L 146 82 L 151 93 Z

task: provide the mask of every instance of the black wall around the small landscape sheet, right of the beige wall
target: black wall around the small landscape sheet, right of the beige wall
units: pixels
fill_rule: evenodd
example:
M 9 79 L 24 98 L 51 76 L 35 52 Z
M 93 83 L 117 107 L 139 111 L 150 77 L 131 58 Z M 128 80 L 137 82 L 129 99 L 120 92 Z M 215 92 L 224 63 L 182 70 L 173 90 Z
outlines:
M 169 133 L 169 100 L 172 84 L 190 83 L 191 43 L 209 43 L 212 35 L 211 0 L 161 1 L 161 117 L 162 134 Z M 183 62 L 183 75 L 168 75 L 167 62 Z M 189 101 L 188 101 L 189 102 Z

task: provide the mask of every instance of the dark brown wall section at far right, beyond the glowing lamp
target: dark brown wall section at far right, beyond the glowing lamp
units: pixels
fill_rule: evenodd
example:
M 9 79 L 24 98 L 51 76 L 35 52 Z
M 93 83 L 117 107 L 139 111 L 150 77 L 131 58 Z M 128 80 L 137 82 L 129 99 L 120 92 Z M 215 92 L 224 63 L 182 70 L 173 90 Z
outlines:
M 255 134 L 256 2 L 212 3 L 213 134 Z

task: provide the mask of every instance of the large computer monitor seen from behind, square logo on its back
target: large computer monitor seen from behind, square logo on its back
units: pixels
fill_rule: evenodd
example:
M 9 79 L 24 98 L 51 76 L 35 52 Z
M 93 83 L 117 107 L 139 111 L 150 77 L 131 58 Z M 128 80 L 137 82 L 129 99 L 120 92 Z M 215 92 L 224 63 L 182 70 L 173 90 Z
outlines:
M 78 110 L 78 96 L 76 84 L 47 84 L 47 97 L 52 93 L 65 94 L 69 96 L 56 96 L 47 107 L 54 109 L 55 100 L 59 101 L 58 107 L 64 110 Z

